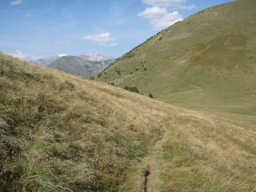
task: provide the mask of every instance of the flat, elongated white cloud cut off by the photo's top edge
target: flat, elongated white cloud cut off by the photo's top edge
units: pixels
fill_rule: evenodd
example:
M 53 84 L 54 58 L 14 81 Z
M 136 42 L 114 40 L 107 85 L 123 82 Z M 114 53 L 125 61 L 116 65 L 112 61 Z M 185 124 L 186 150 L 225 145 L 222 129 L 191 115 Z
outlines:
M 142 3 L 157 7 L 173 7 L 181 9 L 192 9 L 195 5 L 185 6 L 186 0 L 142 0 Z

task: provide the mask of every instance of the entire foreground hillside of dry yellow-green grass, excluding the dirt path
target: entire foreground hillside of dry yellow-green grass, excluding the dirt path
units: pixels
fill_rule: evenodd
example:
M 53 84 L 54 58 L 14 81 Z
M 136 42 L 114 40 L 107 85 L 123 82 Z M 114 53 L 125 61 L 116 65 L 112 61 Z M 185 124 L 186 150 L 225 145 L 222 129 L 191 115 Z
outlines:
M 147 154 L 155 191 L 256 186 L 253 117 L 176 108 L 2 53 L 0 82 L 1 191 L 143 191 Z

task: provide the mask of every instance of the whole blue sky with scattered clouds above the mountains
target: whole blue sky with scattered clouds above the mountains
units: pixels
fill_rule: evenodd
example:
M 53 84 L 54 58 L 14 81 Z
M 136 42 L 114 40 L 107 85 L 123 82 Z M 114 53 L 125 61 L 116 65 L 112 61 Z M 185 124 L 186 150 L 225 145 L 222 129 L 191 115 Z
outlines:
M 0 2 L 0 50 L 24 60 L 100 52 L 115 58 L 158 31 L 230 0 Z

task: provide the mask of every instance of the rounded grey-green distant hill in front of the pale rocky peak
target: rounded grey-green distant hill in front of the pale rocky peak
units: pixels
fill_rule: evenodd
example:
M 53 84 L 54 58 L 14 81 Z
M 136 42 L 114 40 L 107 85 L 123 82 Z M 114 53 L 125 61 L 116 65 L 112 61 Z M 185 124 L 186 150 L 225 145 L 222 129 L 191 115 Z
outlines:
M 47 67 L 58 69 L 70 74 L 90 78 L 109 66 L 112 60 L 87 61 L 77 56 L 63 56 L 50 63 Z

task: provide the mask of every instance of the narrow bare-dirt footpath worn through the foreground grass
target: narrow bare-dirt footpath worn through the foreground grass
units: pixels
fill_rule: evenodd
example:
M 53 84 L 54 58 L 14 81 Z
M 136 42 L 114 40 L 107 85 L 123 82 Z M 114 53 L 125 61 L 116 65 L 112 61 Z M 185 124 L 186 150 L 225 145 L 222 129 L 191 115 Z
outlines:
M 153 187 L 153 181 L 154 181 L 154 176 L 156 173 L 156 166 L 157 166 L 157 162 L 155 159 L 155 153 L 158 152 L 159 143 L 163 140 L 163 138 L 166 137 L 166 134 L 167 134 L 167 132 L 165 129 L 164 135 L 161 138 L 161 140 L 158 140 L 155 142 L 153 150 L 152 150 L 152 154 L 145 157 L 145 162 L 148 163 L 149 168 L 145 172 L 144 192 L 155 192 L 154 187 Z

